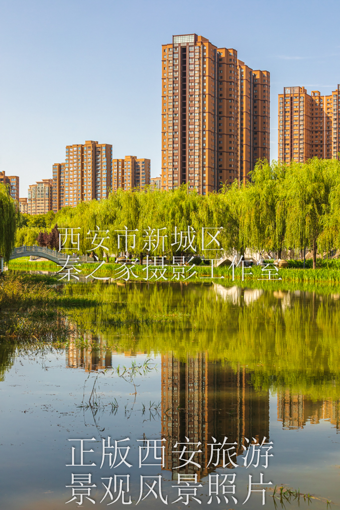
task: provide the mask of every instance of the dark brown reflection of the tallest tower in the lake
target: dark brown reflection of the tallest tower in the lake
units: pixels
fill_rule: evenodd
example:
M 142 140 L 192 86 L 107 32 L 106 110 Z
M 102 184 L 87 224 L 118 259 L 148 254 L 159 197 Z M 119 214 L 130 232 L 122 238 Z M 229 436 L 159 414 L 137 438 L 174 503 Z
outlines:
M 163 354 L 162 437 L 168 440 L 165 469 L 176 477 L 178 454 L 172 452 L 173 446 L 188 437 L 202 443 L 198 474 L 205 476 L 210 459 L 207 445 L 213 442 L 212 437 L 223 442 L 225 436 L 228 442 L 238 443 L 238 455 L 243 453 L 244 437 L 260 442 L 266 437 L 268 441 L 269 392 L 256 392 L 245 369 L 234 372 L 221 362 L 209 362 L 207 353 L 188 355 L 185 362 L 172 353 Z M 210 468 L 216 469 L 212 464 Z M 187 466 L 180 472 L 194 470 Z

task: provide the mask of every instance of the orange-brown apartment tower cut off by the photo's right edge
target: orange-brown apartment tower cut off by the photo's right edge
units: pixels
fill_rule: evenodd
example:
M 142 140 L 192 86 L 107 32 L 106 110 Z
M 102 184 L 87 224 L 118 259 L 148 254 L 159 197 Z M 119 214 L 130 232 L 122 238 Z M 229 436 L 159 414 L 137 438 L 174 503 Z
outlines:
M 310 158 L 338 158 L 340 85 L 329 95 L 304 87 L 284 87 L 278 97 L 279 161 L 304 163 Z

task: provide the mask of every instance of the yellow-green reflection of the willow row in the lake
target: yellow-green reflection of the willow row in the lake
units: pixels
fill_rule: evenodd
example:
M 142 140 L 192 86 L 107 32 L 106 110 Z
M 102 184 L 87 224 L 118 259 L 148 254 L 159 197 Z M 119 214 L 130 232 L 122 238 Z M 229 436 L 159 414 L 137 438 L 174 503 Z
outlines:
M 65 291 L 75 287 L 79 294 L 89 290 Z M 91 285 L 91 295 L 100 306 L 82 314 L 83 327 L 120 352 L 172 351 L 180 360 L 208 352 L 210 361 L 228 361 L 234 371 L 246 366 L 256 388 L 340 398 L 340 301 L 334 296 L 140 283 Z

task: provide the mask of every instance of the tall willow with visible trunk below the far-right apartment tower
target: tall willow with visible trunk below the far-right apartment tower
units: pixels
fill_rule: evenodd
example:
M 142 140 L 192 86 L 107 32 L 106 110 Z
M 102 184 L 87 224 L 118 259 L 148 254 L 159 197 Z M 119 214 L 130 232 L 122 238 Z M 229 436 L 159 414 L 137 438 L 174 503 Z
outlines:
M 291 163 L 286 168 L 283 196 L 286 207 L 286 244 L 302 249 L 310 246 L 313 269 L 317 267 L 319 236 L 329 213 L 332 189 L 332 161 L 313 158 L 307 163 Z

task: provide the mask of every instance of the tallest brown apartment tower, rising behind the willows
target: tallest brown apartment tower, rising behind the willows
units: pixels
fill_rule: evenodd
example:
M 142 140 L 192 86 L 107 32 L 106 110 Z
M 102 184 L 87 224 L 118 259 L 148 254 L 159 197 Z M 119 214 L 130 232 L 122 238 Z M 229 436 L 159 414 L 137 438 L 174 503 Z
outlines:
M 270 76 L 196 34 L 162 45 L 162 188 L 246 180 L 269 159 Z

